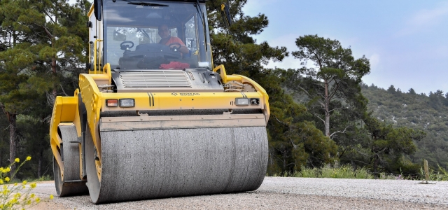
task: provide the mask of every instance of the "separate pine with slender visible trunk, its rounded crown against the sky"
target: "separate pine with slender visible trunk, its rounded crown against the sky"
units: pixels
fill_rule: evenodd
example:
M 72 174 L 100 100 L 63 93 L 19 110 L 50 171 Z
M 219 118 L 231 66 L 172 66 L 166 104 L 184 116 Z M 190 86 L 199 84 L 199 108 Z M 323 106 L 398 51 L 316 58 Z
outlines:
M 334 139 L 335 134 L 353 130 L 349 122 L 365 111 L 359 83 L 370 72 L 368 59 L 354 59 L 350 48 L 342 48 L 339 41 L 317 35 L 300 36 L 295 44 L 299 50 L 293 56 L 302 65 L 311 61 L 316 68 L 288 69 L 286 87 L 296 97 L 308 99 L 307 109 L 325 136 Z M 330 119 L 342 122 L 335 124 Z

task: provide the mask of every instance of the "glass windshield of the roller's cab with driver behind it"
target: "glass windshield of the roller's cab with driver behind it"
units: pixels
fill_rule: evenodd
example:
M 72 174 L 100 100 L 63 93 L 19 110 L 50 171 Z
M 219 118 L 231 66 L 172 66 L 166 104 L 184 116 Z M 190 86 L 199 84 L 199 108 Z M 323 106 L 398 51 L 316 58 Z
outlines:
M 196 5 L 104 1 L 105 62 L 121 71 L 211 69 L 207 15 L 201 14 L 205 4 Z

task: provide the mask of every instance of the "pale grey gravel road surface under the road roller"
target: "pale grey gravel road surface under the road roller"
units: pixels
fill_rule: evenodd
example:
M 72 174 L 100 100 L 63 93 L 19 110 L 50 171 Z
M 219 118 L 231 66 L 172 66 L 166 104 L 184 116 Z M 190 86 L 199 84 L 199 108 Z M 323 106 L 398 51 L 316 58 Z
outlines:
M 40 197 L 55 194 L 38 183 Z M 88 196 L 55 197 L 32 209 L 448 209 L 448 181 L 266 177 L 253 192 L 94 205 Z

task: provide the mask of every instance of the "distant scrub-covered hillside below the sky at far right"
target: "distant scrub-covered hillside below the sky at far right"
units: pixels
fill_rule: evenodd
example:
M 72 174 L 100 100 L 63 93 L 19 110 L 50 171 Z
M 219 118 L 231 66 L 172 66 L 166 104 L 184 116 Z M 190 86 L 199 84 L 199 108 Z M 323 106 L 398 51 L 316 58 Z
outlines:
M 409 158 L 414 163 L 428 160 L 431 167 L 448 167 L 448 99 L 442 91 L 416 94 L 395 90 L 393 85 L 384 90 L 375 85 L 362 85 L 363 95 L 369 99 L 368 111 L 395 127 L 423 130 L 426 137 L 416 142 L 418 151 Z

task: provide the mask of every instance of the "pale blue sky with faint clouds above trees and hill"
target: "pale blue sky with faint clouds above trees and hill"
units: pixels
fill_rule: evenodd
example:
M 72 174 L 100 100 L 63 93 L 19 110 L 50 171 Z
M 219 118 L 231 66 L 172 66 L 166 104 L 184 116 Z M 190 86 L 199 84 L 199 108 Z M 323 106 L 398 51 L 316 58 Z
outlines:
M 370 59 L 367 85 L 402 92 L 448 92 L 448 1 L 248 0 L 246 15 L 267 15 L 258 43 L 297 50 L 307 34 L 337 39 L 355 58 Z M 300 68 L 292 55 L 269 67 Z

